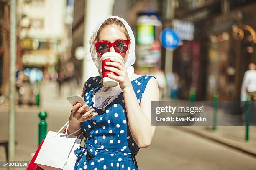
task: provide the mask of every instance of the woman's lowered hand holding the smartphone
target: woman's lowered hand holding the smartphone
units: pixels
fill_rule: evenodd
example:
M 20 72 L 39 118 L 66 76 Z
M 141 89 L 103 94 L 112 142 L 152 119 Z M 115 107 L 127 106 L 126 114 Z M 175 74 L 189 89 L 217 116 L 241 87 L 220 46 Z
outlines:
M 90 109 L 87 104 L 81 105 L 81 103 L 78 102 L 72 107 L 69 121 L 72 121 L 78 124 L 78 123 L 90 120 L 92 117 L 95 117 L 96 115 L 98 115 L 98 113 L 95 112 L 92 116 L 89 116 L 93 112 L 94 112 L 94 109 Z

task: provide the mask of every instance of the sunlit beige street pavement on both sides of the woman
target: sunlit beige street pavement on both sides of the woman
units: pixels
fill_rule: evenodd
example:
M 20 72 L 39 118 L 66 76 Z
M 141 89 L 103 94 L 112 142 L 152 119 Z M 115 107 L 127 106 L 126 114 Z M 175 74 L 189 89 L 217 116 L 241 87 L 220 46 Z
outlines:
M 81 93 L 81 88 L 82 86 L 74 90 L 72 95 Z M 48 114 L 46 118 L 47 130 L 59 130 L 68 120 L 71 109 L 71 105 L 66 99 L 68 96 L 70 96 L 68 85 L 64 85 L 62 94 L 59 96 L 56 82 L 43 82 L 41 86 L 41 107 L 44 107 Z M 0 141 L 5 141 L 8 139 L 8 107 L 2 104 L 0 110 Z M 17 107 L 17 161 L 30 161 L 31 153 L 35 152 L 38 147 L 39 111 L 40 109 L 36 106 L 24 105 Z M 243 136 L 238 139 L 239 135 L 243 135 L 242 132 L 235 133 L 234 136 L 231 134 L 228 138 L 238 140 L 242 145 L 255 150 L 256 127 L 251 128 L 254 133 L 251 132 L 251 141 L 248 143 L 244 142 Z M 187 129 L 184 129 L 184 127 L 158 126 L 151 145 L 148 148 L 141 148 L 136 156 L 139 168 L 141 170 L 255 170 L 256 154 L 253 156 L 244 153 L 233 147 L 191 133 Z M 211 135 L 214 135 L 214 133 Z M 225 135 L 227 135 L 227 130 Z M 235 135 L 238 135 L 238 137 Z M 5 159 L 4 148 L 0 147 L 0 161 Z M 2 169 L 4 170 L 4 168 Z

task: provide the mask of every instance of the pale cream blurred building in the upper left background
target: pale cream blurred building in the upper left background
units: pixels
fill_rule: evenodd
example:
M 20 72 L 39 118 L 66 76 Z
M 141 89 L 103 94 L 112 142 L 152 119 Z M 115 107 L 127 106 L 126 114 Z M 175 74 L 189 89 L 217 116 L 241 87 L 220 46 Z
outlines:
M 70 58 L 66 1 L 19 0 L 17 8 L 23 67 L 54 72 L 58 60 Z

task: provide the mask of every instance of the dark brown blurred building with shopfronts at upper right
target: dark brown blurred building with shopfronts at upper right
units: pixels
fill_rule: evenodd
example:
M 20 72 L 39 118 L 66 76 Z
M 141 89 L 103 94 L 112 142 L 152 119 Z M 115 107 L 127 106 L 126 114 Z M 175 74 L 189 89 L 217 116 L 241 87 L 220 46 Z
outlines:
M 256 62 L 255 9 L 255 0 L 177 1 L 175 18 L 192 22 L 195 30 L 192 40 L 174 50 L 181 99 L 188 99 L 191 88 L 197 100 L 213 100 L 215 91 L 220 100 L 240 99 L 243 74 Z M 186 25 L 182 29 L 189 32 Z

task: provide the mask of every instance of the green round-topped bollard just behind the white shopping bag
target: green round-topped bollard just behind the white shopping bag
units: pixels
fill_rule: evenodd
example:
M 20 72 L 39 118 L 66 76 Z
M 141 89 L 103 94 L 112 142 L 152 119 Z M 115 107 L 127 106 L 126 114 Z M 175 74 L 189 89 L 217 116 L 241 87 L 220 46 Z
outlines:
M 38 146 L 40 145 L 41 141 L 46 137 L 47 133 L 47 123 L 45 121 L 47 117 L 47 113 L 45 111 L 41 111 L 39 113 L 40 117 L 40 123 L 39 123 L 39 140 L 38 140 Z

